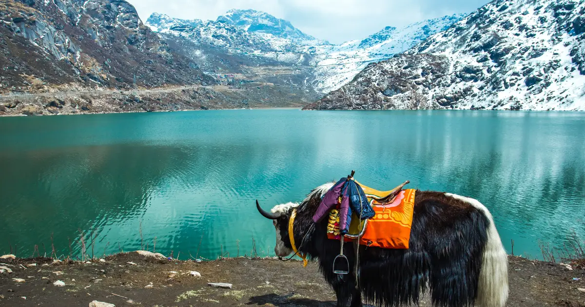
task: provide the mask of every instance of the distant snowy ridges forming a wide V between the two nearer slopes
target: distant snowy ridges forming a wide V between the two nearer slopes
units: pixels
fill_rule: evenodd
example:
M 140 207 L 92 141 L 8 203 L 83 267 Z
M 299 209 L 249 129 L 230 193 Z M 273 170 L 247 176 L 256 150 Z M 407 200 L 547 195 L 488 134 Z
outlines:
M 261 57 L 263 61 L 277 61 L 283 65 L 314 67 L 314 71 L 306 76 L 306 83 L 318 92 L 328 92 L 352 80 L 369 63 L 390 58 L 395 53 L 408 49 L 426 37 L 449 27 L 463 16 L 464 14 L 453 14 L 422 20 L 399 29 L 387 26 L 362 40 L 339 45 L 315 40 L 312 36 L 290 39 L 287 33 L 283 34 L 282 25 L 286 26 L 288 32 L 297 33 L 298 29 L 285 20 L 253 10 L 232 9 L 219 16 L 215 22 L 207 20 L 196 27 L 188 25 L 192 20 L 173 19 L 168 16 L 160 18 L 160 14 L 154 13 L 146 25 L 160 33 L 186 37 L 197 44 L 223 48 L 226 53 L 237 53 L 243 57 L 253 55 L 256 59 Z M 267 23 L 271 23 L 273 28 L 277 29 L 276 32 L 252 28 L 254 25 Z M 261 65 L 263 61 L 259 64 Z

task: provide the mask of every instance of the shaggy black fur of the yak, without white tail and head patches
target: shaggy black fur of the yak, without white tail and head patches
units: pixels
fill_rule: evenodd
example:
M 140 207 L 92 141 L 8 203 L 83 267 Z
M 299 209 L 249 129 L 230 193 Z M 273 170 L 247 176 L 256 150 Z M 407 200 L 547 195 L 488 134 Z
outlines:
M 319 201 L 319 195 L 314 195 L 298 206 L 294 222 L 297 244 L 311 229 Z M 289 217 L 290 212 L 277 220 L 287 247 L 291 247 Z M 318 259 L 325 280 L 335 290 L 338 306 L 362 306 L 362 296 L 364 301 L 380 306 L 417 304 L 427 290 L 434 306 L 474 305 L 490 220 L 469 203 L 439 192 L 417 191 L 409 249 L 360 246 L 359 290 L 353 272 L 354 244 L 345 244 L 343 250 L 352 267 L 350 274 L 333 274 L 340 242 L 327 239 L 326 223 L 325 219 L 315 225 L 300 250 Z

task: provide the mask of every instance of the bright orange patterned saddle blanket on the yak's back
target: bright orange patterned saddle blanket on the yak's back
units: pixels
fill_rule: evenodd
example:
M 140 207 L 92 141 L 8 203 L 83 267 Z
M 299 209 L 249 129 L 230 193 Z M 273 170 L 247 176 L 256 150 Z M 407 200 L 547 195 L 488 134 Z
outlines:
M 376 199 L 390 195 L 395 192 L 395 189 L 392 191 L 377 191 L 359 182 L 356 183 L 364 190 L 376 215 L 369 220 L 363 221 L 353 215 L 349 233 L 345 235 L 345 241 L 352 242 L 359 237 L 359 243 L 365 246 L 381 247 L 383 249 L 408 249 L 416 190 L 401 190 L 391 201 L 379 203 Z M 331 215 L 329 223 L 335 223 L 335 218 L 332 218 Z M 331 225 L 329 226 L 329 229 L 331 229 Z M 340 240 L 338 231 L 328 232 L 327 237 L 331 240 Z

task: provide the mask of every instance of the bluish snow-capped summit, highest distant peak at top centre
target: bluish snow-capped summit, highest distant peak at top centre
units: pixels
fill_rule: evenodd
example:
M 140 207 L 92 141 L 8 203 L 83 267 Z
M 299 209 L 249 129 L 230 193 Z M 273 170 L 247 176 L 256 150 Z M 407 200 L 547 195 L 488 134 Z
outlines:
M 253 9 L 230 9 L 225 15 L 219 16 L 216 22 L 246 27 L 248 32 L 269 33 L 276 37 L 290 40 L 315 40 L 315 37 L 302 33 L 290 22 L 278 19 L 269 13 Z

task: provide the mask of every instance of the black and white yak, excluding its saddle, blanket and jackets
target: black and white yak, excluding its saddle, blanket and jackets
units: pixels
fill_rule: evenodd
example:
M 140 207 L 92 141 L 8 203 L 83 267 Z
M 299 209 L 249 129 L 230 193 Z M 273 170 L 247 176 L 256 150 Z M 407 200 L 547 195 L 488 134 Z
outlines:
M 319 270 L 333 288 L 338 307 L 418 305 L 430 295 L 435 307 L 503 307 L 508 298 L 508 258 L 491 213 L 479 201 L 455 194 L 417 191 L 409 249 L 360 247 L 358 279 L 355 244 L 345 244 L 350 274 L 333 273 L 339 240 L 326 236 L 327 219 L 312 216 L 332 183 L 321 185 L 301 203 L 277 205 L 264 211 L 276 228 L 274 252 L 294 253 L 288 234 L 293 210 L 293 239 L 298 251 L 318 260 Z M 356 282 L 357 281 L 357 282 Z

